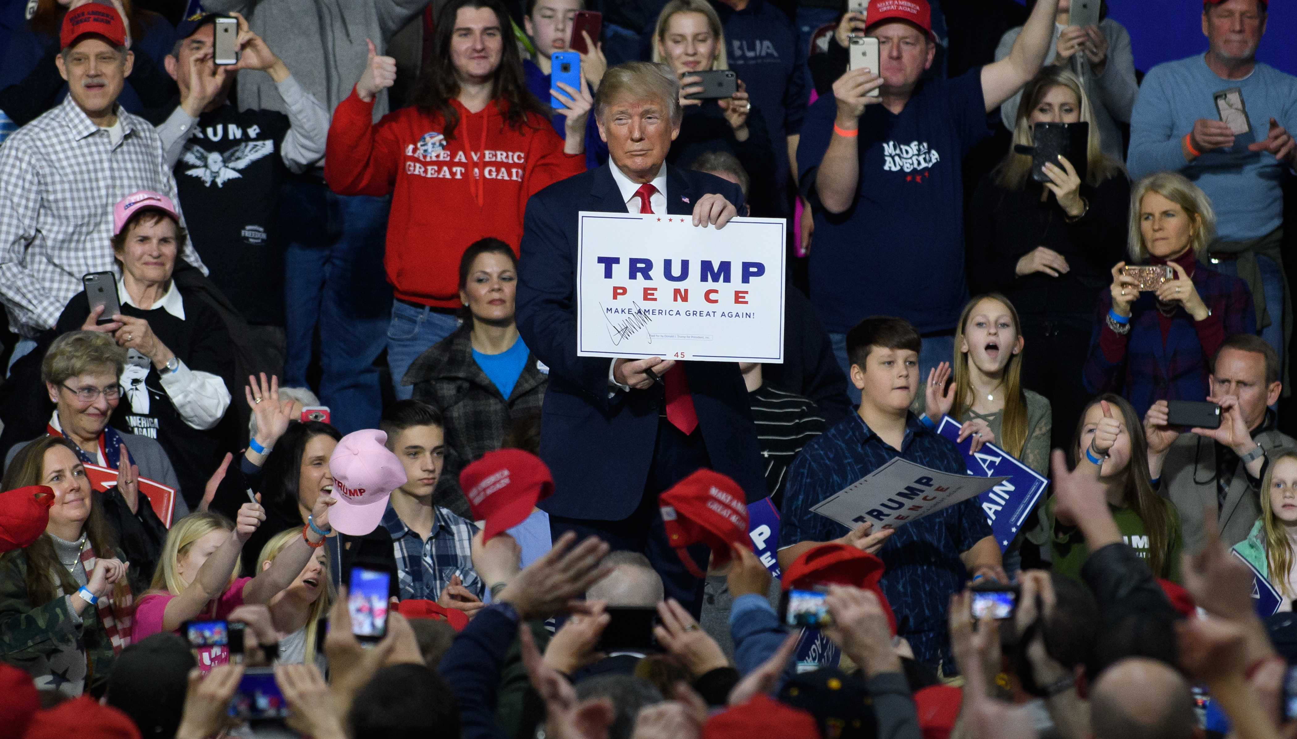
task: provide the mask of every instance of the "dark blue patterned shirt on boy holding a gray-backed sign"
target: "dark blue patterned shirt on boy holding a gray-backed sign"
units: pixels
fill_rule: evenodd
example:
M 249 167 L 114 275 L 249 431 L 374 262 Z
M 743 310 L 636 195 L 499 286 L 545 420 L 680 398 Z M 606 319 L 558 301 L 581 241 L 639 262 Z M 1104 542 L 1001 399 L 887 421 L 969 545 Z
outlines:
M 900 451 L 888 446 L 859 414 L 811 441 L 789 471 L 779 548 L 847 535 L 847 526 L 811 508 L 895 456 L 940 472 L 966 473 L 955 443 L 926 429 L 913 414 L 900 446 Z M 944 660 L 953 666 L 946 612 L 951 594 L 969 577 L 960 554 L 990 535 L 991 525 L 971 498 L 905 524 L 878 551 L 887 565 L 879 586 L 896 613 L 898 633 L 909 640 L 918 661 L 936 665 Z

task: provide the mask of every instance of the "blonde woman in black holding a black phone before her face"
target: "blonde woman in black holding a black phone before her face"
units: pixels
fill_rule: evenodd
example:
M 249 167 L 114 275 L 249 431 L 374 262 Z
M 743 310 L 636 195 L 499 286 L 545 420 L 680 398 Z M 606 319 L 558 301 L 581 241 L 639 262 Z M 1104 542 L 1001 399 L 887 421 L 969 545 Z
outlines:
M 1092 101 L 1077 75 L 1047 65 L 1022 101 L 1009 152 L 973 193 L 968 279 L 970 290 L 1001 293 L 1022 315 L 1031 346 L 1022 384 L 1049 401 L 1052 443 L 1062 447 L 1088 395 L 1080 370 L 1095 301 L 1126 244 L 1130 180 L 1100 150 Z M 1040 183 L 1032 157 L 1014 147 L 1032 147 L 1043 123 L 1088 123 L 1089 140 L 1084 161 L 1065 156 L 1044 167 L 1048 182 Z

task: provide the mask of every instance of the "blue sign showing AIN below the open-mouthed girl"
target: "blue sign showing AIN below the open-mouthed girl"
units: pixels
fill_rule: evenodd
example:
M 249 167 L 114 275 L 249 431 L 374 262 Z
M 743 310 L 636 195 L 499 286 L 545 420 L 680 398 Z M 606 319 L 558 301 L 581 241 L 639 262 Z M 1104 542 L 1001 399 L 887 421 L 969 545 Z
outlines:
M 951 416 L 942 416 L 942 425 L 936 427 L 936 433 L 955 441 L 960 436 L 962 424 Z M 1017 535 L 1018 529 L 1026 522 L 1036 500 L 1044 494 L 1049 481 L 1036 473 L 1017 458 L 995 446 L 984 445 L 977 454 L 973 454 L 973 437 L 956 442 L 960 454 L 964 455 L 964 464 L 968 473 L 977 477 L 1008 477 L 1004 482 L 979 495 L 982 511 L 991 524 L 995 541 L 1000 545 L 1000 551 L 1009 548 L 1009 542 Z

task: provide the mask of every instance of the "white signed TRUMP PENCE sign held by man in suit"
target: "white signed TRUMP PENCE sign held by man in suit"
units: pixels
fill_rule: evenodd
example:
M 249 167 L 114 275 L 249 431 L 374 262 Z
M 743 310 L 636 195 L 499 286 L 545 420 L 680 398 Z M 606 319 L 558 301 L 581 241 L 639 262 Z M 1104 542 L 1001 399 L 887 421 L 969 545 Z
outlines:
M 783 362 L 785 219 L 580 218 L 578 357 Z

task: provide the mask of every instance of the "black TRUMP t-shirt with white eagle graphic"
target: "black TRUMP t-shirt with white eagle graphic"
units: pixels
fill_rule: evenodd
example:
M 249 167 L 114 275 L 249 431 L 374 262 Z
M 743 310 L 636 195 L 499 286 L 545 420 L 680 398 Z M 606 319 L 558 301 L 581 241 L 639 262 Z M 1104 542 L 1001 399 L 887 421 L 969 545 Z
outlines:
M 279 147 L 288 117 L 274 110 L 204 113 L 175 163 L 180 207 L 211 281 L 254 325 L 284 325 Z

